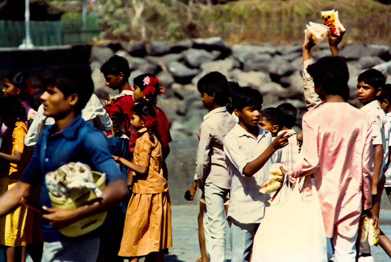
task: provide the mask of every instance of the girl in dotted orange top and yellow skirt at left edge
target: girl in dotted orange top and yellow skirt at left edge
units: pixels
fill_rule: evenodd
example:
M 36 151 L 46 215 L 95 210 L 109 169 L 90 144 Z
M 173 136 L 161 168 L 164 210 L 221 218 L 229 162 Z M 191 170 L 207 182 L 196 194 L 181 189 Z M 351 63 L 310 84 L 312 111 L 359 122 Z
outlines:
M 30 159 L 30 151 L 23 143 L 27 134 L 25 116 L 25 109 L 16 97 L 4 97 L 0 101 L 0 117 L 8 128 L 0 148 L 0 195 L 16 185 Z M 0 218 L 0 244 L 7 262 L 25 261 L 26 245 L 32 239 L 28 232 L 32 221 L 27 218 L 27 212 L 26 206 L 20 206 Z

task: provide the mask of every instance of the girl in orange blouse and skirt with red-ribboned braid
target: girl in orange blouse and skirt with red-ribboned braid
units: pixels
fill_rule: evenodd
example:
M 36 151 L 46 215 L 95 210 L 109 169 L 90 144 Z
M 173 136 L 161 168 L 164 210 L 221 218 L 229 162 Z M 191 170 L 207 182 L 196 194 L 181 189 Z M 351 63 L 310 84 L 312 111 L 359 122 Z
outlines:
M 131 113 L 131 124 L 137 131 L 133 161 L 114 156 L 131 170 L 127 184 L 133 184 L 118 253 L 129 262 L 145 256 L 148 261 L 163 262 L 164 249 L 172 247 L 171 204 L 155 117 L 152 104 L 136 104 Z

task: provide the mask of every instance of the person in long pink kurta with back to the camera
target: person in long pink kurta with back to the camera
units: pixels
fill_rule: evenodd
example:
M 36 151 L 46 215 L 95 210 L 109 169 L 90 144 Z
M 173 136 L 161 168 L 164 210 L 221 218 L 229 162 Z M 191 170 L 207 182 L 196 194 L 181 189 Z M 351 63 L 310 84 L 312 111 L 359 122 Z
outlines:
M 303 116 L 303 162 L 286 175 L 307 182 L 313 175 L 336 261 L 354 262 L 362 208 L 372 208 L 372 121 L 344 102 L 349 73 L 341 57 L 322 57 L 307 70 L 325 103 Z

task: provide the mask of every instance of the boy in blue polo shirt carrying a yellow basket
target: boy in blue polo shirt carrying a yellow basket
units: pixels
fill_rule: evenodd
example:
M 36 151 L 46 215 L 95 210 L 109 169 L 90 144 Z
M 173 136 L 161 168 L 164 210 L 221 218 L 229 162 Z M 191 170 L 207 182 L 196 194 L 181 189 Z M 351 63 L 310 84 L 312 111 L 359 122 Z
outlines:
M 50 212 L 42 216 L 45 241 L 42 261 L 95 262 L 99 250 L 96 230 L 79 237 L 65 237 L 58 229 L 117 205 L 128 189 L 109 154 L 106 137 L 81 118 L 81 109 L 93 93 L 90 68 L 64 66 L 55 75 L 41 95 L 44 115 L 54 118 L 55 124 L 42 132 L 20 181 L 0 197 L 0 216 L 12 212 L 20 205 L 21 198 L 28 198 L 32 188 L 41 183 L 41 206 Z M 82 162 L 106 174 L 102 201 L 74 210 L 50 208 L 45 175 L 70 162 Z

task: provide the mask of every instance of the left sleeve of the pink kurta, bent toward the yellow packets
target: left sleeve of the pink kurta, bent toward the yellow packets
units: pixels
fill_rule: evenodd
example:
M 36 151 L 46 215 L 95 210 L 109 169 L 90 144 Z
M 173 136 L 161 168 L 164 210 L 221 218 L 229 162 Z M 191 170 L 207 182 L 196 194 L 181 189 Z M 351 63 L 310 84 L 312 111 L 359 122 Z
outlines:
M 303 116 L 303 146 L 301 151 L 303 161 L 292 172 L 289 172 L 289 181 L 296 183 L 296 179 L 313 174 L 319 168 L 319 155 L 315 130 L 307 122 L 306 114 Z

